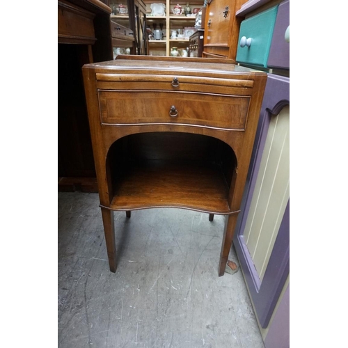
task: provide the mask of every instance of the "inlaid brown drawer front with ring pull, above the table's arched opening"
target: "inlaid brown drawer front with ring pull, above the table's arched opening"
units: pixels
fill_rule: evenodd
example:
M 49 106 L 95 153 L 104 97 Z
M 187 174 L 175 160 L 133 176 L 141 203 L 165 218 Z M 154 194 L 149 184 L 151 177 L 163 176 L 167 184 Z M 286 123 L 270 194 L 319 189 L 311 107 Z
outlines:
M 182 124 L 222 129 L 245 127 L 249 97 L 189 92 L 98 90 L 104 125 Z M 177 116 L 169 111 L 175 106 Z

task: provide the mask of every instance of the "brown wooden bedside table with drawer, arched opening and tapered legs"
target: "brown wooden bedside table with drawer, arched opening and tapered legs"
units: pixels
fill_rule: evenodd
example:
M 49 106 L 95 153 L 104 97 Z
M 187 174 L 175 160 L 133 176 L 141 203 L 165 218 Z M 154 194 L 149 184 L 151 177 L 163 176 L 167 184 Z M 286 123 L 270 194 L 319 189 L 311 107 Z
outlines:
M 113 211 L 226 215 L 223 276 L 267 74 L 228 59 L 117 56 L 82 68 L 110 270 Z

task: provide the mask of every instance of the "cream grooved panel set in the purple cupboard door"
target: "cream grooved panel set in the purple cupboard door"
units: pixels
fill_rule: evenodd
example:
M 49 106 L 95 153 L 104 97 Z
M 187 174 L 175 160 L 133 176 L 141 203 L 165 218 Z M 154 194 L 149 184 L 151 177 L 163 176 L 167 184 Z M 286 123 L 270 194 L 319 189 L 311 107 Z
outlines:
M 271 119 L 244 237 L 262 280 L 290 196 L 290 108 Z

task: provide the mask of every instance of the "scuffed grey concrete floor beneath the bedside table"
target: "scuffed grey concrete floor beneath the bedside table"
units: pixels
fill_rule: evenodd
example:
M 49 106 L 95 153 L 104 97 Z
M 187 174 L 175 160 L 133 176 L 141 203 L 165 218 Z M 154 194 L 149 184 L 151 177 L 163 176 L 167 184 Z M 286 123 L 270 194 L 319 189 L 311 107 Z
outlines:
M 224 221 L 116 212 L 113 274 L 97 193 L 58 193 L 58 347 L 264 348 L 242 271 L 217 275 Z

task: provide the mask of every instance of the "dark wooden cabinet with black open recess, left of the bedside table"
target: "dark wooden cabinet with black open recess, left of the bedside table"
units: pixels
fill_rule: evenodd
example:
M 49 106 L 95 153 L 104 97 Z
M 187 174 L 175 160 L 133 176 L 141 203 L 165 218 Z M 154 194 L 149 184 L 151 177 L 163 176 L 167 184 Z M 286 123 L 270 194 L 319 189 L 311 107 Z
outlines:
M 99 0 L 58 1 L 58 189 L 96 191 L 81 68 L 112 59 L 111 9 Z

